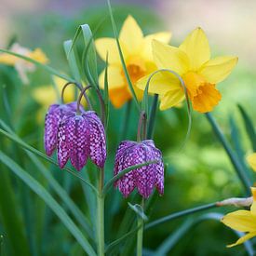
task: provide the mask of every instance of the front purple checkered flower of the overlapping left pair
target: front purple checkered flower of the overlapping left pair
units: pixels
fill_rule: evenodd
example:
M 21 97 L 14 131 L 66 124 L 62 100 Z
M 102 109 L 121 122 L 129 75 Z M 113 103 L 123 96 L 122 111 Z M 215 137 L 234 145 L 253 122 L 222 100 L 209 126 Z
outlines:
M 94 111 L 81 115 L 69 113 L 58 129 L 58 161 L 63 168 L 70 158 L 77 170 L 83 168 L 88 157 L 103 168 L 106 160 L 105 131 L 101 119 Z

